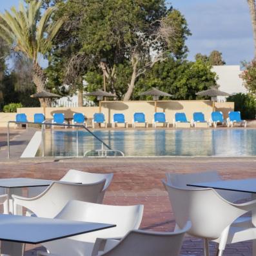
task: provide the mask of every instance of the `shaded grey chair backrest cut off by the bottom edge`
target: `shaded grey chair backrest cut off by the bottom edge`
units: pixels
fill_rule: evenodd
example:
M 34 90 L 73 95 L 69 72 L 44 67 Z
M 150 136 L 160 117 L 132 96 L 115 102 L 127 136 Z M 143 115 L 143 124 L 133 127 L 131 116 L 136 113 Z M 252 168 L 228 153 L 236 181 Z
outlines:
M 179 231 L 160 233 L 132 230 L 104 256 L 177 256 L 181 250 L 182 240 L 190 222 Z

